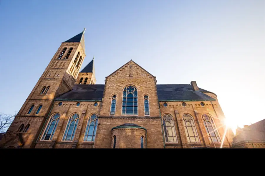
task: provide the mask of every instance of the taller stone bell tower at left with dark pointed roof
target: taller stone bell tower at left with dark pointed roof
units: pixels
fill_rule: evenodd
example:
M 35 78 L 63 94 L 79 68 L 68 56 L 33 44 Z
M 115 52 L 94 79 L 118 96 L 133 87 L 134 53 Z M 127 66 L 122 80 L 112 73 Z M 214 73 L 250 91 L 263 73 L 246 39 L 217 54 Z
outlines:
M 72 89 L 85 56 L 84 29 L 62 42 L 1 140 L 1 148 L 34 147 L 54 99 Z

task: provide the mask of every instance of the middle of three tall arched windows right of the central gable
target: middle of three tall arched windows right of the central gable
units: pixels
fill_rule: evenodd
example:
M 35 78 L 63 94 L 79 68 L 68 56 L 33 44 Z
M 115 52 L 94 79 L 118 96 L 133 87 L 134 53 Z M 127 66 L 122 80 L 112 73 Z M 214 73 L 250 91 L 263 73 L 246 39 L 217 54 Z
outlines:
M 190 114 L 183 114 L 183 125 L 188 143 L 200 143 L 194 119 Z

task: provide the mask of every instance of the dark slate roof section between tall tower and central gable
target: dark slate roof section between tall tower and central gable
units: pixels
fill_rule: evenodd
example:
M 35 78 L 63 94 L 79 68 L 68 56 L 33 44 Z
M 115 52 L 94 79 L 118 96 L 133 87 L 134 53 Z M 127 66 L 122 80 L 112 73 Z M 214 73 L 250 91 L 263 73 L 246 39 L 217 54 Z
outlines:
M 73 89 L 55 100 L 101 101 L 105 84 L 76 84 Z

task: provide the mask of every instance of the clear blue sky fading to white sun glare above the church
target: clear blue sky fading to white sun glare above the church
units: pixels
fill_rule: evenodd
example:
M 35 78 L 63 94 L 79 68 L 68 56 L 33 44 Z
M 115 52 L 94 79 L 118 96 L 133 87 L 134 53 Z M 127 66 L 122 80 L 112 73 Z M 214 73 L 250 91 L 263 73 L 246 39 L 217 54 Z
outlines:
M 264 0 L 1 1 L 0 112 L 14 114 L 61 42 L 85 32 L 97 84 L 134 60 L 157 84 L 215 92 L 228 119 L 264 119 Z M 81 69 L 82 69 L 81 68 Z

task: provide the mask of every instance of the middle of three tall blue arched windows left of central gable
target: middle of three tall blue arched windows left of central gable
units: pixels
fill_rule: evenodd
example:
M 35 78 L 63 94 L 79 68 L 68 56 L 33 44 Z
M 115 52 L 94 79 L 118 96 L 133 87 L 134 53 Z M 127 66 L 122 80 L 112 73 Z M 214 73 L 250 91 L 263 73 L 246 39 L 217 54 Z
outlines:
M 79 120 L 79 115 L 76 113 L 69 118 L 67 126 L 64 131 L 63 141 L 72 141 L 74 139 L 74 134 L 78 124 L 78 120 Z

